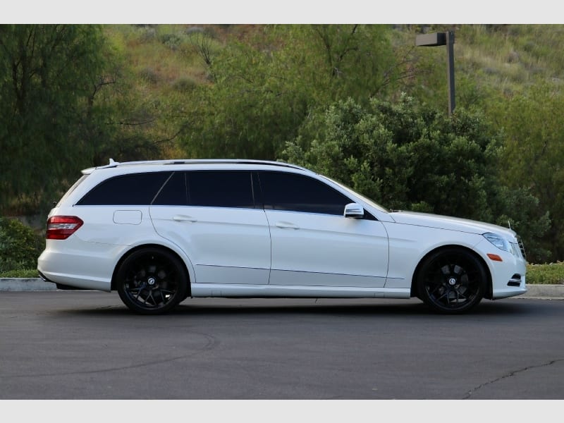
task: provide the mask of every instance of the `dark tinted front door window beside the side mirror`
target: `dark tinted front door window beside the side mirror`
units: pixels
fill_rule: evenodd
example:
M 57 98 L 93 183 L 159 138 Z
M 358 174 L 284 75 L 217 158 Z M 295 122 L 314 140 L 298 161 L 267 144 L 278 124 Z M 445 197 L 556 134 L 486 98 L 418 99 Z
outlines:
M 265 209 L 343 214 L 351 201 L 319 180 L 294 173 L 259 174 Z

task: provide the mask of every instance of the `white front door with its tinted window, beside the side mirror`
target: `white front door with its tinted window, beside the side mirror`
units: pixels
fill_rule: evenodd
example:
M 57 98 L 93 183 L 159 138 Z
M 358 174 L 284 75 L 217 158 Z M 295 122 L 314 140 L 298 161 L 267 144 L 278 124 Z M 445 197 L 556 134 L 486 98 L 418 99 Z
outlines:
M 271 233 L 269 283 L 384 286 L 388 237 L 381 222 L 345 218 L 345 204 L 353 200 L 317 179 L 281 172 L 259 177 Z

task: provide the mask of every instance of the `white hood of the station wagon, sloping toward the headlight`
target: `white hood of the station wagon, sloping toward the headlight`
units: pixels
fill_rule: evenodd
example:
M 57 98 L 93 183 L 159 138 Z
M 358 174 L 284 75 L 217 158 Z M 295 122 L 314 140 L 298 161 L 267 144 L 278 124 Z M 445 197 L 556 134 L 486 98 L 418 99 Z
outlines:
M 404 225 L 426 226 L 428 228 L 448 229 L 449 231 L 460 231 L 468 233 L 493 232 L 503 235 L 509 240 L 515 240 L 515 231 L 503 228 L 503 226 L 493 225 L 470 219 L 460 219 L 458 217 L 441 216 L 439 214 L 416 213 L 416 212 L 391 212 L 390 216 L 397 223 Z

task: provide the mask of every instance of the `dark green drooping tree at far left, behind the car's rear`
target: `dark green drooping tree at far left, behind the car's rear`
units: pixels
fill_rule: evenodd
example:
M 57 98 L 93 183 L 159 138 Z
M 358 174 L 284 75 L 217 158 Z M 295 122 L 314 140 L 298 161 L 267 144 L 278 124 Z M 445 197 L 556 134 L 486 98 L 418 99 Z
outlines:
M 37 214 L 108 159 L 159 157 L 169 96 L 134 90 L 99 25 L 0 25 L 0 212 Z

